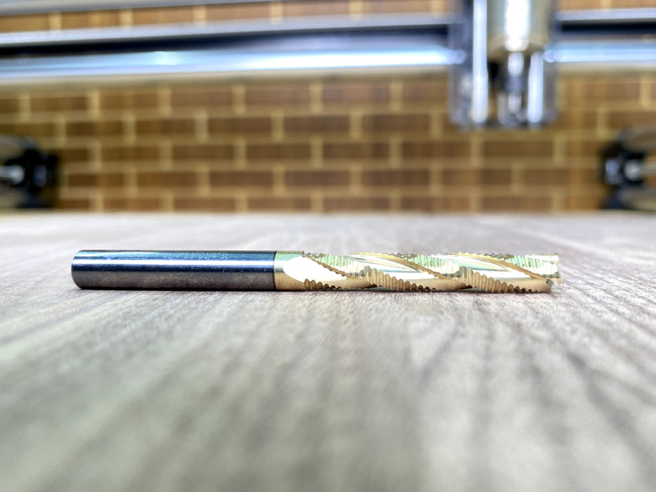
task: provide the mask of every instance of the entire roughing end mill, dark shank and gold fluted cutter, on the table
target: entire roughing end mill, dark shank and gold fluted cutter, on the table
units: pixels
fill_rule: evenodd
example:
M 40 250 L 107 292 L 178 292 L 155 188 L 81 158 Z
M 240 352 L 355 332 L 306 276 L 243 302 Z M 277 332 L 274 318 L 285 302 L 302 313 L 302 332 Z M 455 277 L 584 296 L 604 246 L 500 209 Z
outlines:
M 302 251 L 80 251 L 86 289 L 548 292 L 558 254 L 318 254 Z

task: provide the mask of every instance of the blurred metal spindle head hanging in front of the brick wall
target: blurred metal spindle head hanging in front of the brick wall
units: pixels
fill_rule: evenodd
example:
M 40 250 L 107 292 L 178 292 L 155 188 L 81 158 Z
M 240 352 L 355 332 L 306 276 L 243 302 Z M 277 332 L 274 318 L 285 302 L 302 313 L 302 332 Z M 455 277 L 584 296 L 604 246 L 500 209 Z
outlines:
M 451 119 L 462 127 L 537 127 L 555 110 L 553 0 L 463 0 L 451 48 Z

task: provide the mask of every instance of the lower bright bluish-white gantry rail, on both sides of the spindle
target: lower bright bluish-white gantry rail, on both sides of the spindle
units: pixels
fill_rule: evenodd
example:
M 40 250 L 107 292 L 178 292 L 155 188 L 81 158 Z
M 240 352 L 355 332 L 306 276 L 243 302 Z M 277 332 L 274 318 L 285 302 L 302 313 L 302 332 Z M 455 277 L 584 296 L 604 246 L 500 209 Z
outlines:
M 326 40 L 306 39 L 326 46 Z M 332 72 L 444 72 L 458 53 L 427 37 L 410 36 L 336 43 L 333 49 L 274 49 L 269 44 L 249 48 L 218 48 L 103 56 L 43 56 L 0 61 L 0 86 L 51 84 L 188 81 L 237 77 L 315 75 Z M 392 41 L 392 39 L 390 39 Z M 350 46 L 346 48 L 345 46 Z M 546 53 L 562 72 L 656 70 L 656 41 L 619 44 L 562 42 Z

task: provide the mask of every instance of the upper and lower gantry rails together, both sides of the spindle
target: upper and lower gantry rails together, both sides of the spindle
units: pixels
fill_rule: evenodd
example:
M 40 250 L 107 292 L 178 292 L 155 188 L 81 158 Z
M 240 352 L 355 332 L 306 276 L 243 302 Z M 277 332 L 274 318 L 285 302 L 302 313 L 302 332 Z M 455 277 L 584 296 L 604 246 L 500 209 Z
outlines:
M 546 58 L 565 71 L 656 70 L 656 39 L 644 35 L 656 34 L 656 8 L 616 14 L 559 13 L 567 29 Z M 453 20 L 449 14 L 333 16 L 280 24 L 256 20 L 0 34 L 0 86 L 442 71 L 460 56 L 447 47 Z M 593 32 L 586 30 L 591 23 Z M 629 25 L 630 34 L 613 34 Z

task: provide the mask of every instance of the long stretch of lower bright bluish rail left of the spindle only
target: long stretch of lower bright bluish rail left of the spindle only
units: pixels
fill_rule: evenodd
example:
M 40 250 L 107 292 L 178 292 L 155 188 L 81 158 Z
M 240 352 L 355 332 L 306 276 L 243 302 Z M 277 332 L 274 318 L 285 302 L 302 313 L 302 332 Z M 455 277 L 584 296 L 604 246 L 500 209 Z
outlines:
M 112 53 L 103 56 L 39 56 L 0 60 L 0 86 L 34 86 L 71 82 L 113 84 L 135 80 L 299 75 L 335 71 L 435 71 L 455 62 L 456 53 L 434 39 L 408 37 L 383 44 L 380 39 L 349 43 L 305 39 L 321 50 L 271 49 L 270 43 L 247 48 Z M 298 44 L 298 43 L 296 43 Z M 349 45 L 349 48 L 345 47 Z

